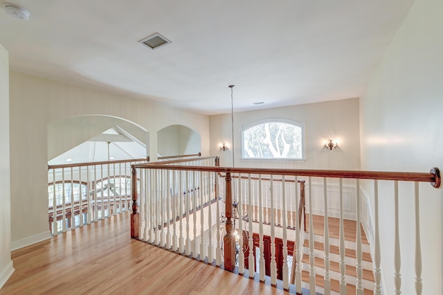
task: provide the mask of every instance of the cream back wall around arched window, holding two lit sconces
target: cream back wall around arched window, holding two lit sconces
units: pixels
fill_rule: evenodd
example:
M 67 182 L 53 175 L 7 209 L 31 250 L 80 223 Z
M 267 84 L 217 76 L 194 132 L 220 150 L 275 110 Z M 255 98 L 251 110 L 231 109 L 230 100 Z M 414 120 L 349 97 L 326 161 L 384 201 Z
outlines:
M 305 122 L 305 161 L 240 159 L 242 157 L 240 138 L 242 127 L 266 118 Z M 209 122 L 210 153 L 220 156 L 221 166 L 232 166 L 230 114 L 210 116 Z M 358 98 L 234 113 L 235 166 L 359 170 L 359 132 Z M 327 139 L 339 139 L 340 149 L 332 152 L 324 150 L 323 143 Z M 230 149 L 222 152 L 219 150 L 220 143 L 228 143 Z

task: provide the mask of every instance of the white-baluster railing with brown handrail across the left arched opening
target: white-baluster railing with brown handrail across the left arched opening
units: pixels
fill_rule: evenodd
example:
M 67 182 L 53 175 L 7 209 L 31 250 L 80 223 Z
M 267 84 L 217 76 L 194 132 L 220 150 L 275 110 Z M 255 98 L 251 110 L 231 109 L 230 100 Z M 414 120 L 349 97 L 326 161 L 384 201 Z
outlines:
M 130 209 L 131 165 L 147 159 L 48 166 L 48 217 L 53 235 Z

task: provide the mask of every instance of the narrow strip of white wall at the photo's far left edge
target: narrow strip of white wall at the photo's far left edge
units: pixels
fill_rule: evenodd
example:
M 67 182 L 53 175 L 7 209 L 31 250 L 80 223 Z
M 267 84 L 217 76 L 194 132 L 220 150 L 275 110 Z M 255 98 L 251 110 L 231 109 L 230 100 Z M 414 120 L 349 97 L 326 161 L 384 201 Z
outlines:
M 0 44 L 0 288 L 14 269 L 11 260 L 9 161 L 9 56 Z

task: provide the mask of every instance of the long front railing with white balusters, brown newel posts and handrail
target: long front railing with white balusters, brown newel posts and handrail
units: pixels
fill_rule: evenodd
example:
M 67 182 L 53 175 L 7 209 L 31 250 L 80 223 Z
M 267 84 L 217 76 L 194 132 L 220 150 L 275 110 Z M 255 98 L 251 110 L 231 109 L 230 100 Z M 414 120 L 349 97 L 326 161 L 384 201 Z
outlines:
M 378 217 L 378 183 L 392 183 L 397 188 L 399 181 L 415 183 L 416 217 L 418 224 L 419 182 L 431 182 L 440 186 L 437 169 L 430 173 L 360 172 L 326 170 L 277 170 L 251 168 L 221 168 L 208 166 L 164 166 L 156 163 L 134 165 L 133 177 L 140 177 L 140 193 L 133 190 L 132 238 L 156 244 L 159 247 L 184 253 L 224 269 L 253 278 L 256 273 L 264 281 L 270 277 L 272 285 L 282 280 L 284 289 L 295 283 L 296 292 L 302 286 L 310 292 L 332 294 L 332 280 L 337 280 L 336 292 L 346 294 L 347 285 L 354 286 L 356 294 L 365 289 L 381 294 L 380 241 Z M 136 173 L 141 170 L 141 174 Z M 361 179 L 372 179 L 375 194 L 375 240 L 374 269 L 372 263 L 363 260 L 363 251 L 370 253 L 369 245 L 363 242 L 361 231 Z M 300 180 L 307 186 L 307 233 L 299 222 Z M 303 184 L 304 185 L 304 184 Z M 313 188 L 313 186 L 316 188 Z M 425 184 L 426 185 L 426 184 Z M 322 187 L 318 193 L 318 187 Z M 224 188 L 224 189 L 222 189 Z M 345 192 L 355 200 L 355 232 L 347 236 L 347 220 L 343 208 Z M 320 194 L 320 198 L 315 195 Z M 334 195 L 337 195 L 335 198 Z M 383 196 L 388 197 L 388 196 Z M 397 204 L 398 190 L 395 189 Z M 318 225 L 314 225 L 312 209 L 323 203 L 323 249 L 318 249 Z M 138 203 L 139 202 L 139 203 Z M 329 204 L 338 204 L 338 217 L 329 217 Z M 337 208 L 334 208 L 337 209 Z M 393 208 L 398 216 L 398 206 Z M 302 212 L 302 211 L 300 211 Z M 335 212 L 335 211 L 334 211 Z M 334 213 L 335 214 L 335 213 Z M 328 221 L 337 220 L 332 226 Z M 303 219 L 301 219 L 304 223 Z M 399 231 L 396 219 L 395 232 Z M 332 229 L 336 233 L 332 233 Z M 421 260 L 419 229 L 415 236 L 415 258 Z M 307 240 L 307 246 L 303 247 Z M 332 244 L 339 251 L 332 253 Z M 398 235 L 395 236 L 395 285 L 399 292 L 401 274 Z M 354 251 L 352 262 L 347 251 Z M 321 252 L 321 255 L 318 254 Z M 303 260 L 303 254 L 309 258 Z M 406 259 L 406 258 L 405 258 Z M 323 269 L 318 271 L 317 260 L 323 260 Z M 338 271 L 330 269 L 331 263 L 339 265 Z M 355 275 L 350 278 L 347 268 L 353 265 Z M 398 266 L 398 267 L 397 267 Z M 363 278 L 363 271 L 374 272 L 374 282 Z M 309 279 L 303 285 L 303 272 Z M 295 272 L 295 276 L 291 275 Z M 316 284 L 316 276 L 323 276 L 324 287 Z M 291 280 L 293 278 L 293 280 Z M 417 265 L 414 277 L 417 290 L 421 289 L 421 266 Z M 368 291 L 366 290 L 366 292 Z M 418 292 L 418 291 L 417 291 Z

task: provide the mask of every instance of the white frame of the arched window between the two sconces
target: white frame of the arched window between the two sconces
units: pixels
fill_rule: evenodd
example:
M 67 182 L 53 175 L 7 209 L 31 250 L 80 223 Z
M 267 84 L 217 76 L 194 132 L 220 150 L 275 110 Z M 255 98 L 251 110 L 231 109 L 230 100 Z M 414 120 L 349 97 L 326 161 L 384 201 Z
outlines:
M 244 157 L 244 132 L 252 127 L 255 127 L 257 125 L 263 125 L 265 123 L 284 123 L 289 125 L 294 125 L 296 127 L 301 128 L 301 138 L 302 138 L 302 157 L 301 158 L 245 158 Z M 289 120 L 286 118 L 264 118 L 261 120 L 256 120 L 252 123 L 249 123 L 248 125 L 242 126 L 241 132 L 240 132 L 240 141 L 241 141 L 241 160 L 242 161 L 306 161 L 306 123 L 305 122 L 298 122 L 296 120 Z

